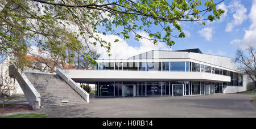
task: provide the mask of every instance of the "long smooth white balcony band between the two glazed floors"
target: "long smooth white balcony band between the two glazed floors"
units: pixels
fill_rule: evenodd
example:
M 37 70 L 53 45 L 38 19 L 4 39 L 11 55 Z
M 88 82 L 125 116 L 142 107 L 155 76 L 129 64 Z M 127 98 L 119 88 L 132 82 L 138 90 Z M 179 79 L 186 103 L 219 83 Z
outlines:
M 113 70 L 63 70 L 69 78 L 79 81 L 230 81 L 230 76 L 207 72 L 168 72 L 168 71 L 113 71 Z

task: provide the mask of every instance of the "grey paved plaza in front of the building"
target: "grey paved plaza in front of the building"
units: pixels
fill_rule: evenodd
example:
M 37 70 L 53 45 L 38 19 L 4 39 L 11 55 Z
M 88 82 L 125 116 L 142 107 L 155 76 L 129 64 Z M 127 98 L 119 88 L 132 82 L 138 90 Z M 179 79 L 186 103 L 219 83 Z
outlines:
M 254 94 L 190 97 L 90 97 L 90 104 L 44 108 L 49 117 L 256 117 Z

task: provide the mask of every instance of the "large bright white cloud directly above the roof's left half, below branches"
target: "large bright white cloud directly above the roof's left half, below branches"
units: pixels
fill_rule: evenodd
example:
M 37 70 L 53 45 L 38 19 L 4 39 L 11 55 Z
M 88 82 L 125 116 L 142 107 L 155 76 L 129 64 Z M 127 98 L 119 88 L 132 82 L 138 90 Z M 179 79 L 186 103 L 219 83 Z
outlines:
M 148 37 L 146 32 L 137 32 L 139 35 Z M 110 54 L 112 54 L 111 57 L 108 56 L 108 53 L 106 53 L 106 49 L 102 48 L 100 44 L 97 44 L 96 47 L 92 46 L 94 50 L 97 50 L 97 53 L 100 54 L 101 59 L 126 59 L 129 57 L 132 57 L 133 55 L 141 54 L 146 51 L 150 50 L 171 50 L 171 48 L 168 48 L 164 43 L 158 42 L 158 45 L 154 45 L 151 41 L 143 38 L 139 40 L 140 43 L 139 47 L 133 47 L 127 44 L 126 41 L 124 41 L 121 37 L 114 36 L 114 35 L 101 35 L 101 38 L 104 39 L 107 42 L 111 42 L 111 50 Z M 119 42 L 114 42 L 115 39 L 118 39 Z

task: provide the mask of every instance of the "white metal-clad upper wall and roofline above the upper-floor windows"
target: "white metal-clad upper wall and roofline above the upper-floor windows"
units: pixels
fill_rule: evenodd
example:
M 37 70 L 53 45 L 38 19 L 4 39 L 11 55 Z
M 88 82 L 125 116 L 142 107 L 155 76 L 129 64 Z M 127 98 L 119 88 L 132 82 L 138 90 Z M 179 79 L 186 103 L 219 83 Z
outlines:
M 239 72 L 238 67 L 229 57 L 203 54 L 199 49 L 178 51 L 151 50 L 146 53 L 134 55 L 127 59 L 98 59 L 98 63 L 111 62 L 194 62 L 204 66 L 220 68 L 232 72 Z

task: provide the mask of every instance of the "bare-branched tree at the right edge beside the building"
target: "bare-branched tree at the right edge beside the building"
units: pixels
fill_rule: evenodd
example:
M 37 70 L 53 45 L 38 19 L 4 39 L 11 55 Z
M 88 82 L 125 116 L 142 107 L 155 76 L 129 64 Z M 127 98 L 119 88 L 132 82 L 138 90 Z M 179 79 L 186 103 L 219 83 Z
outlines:
M 240 70 L 253 81 L 256 89 L 256 49 L 248 46 L 246 50 L 238 49 L 235 62 Z

